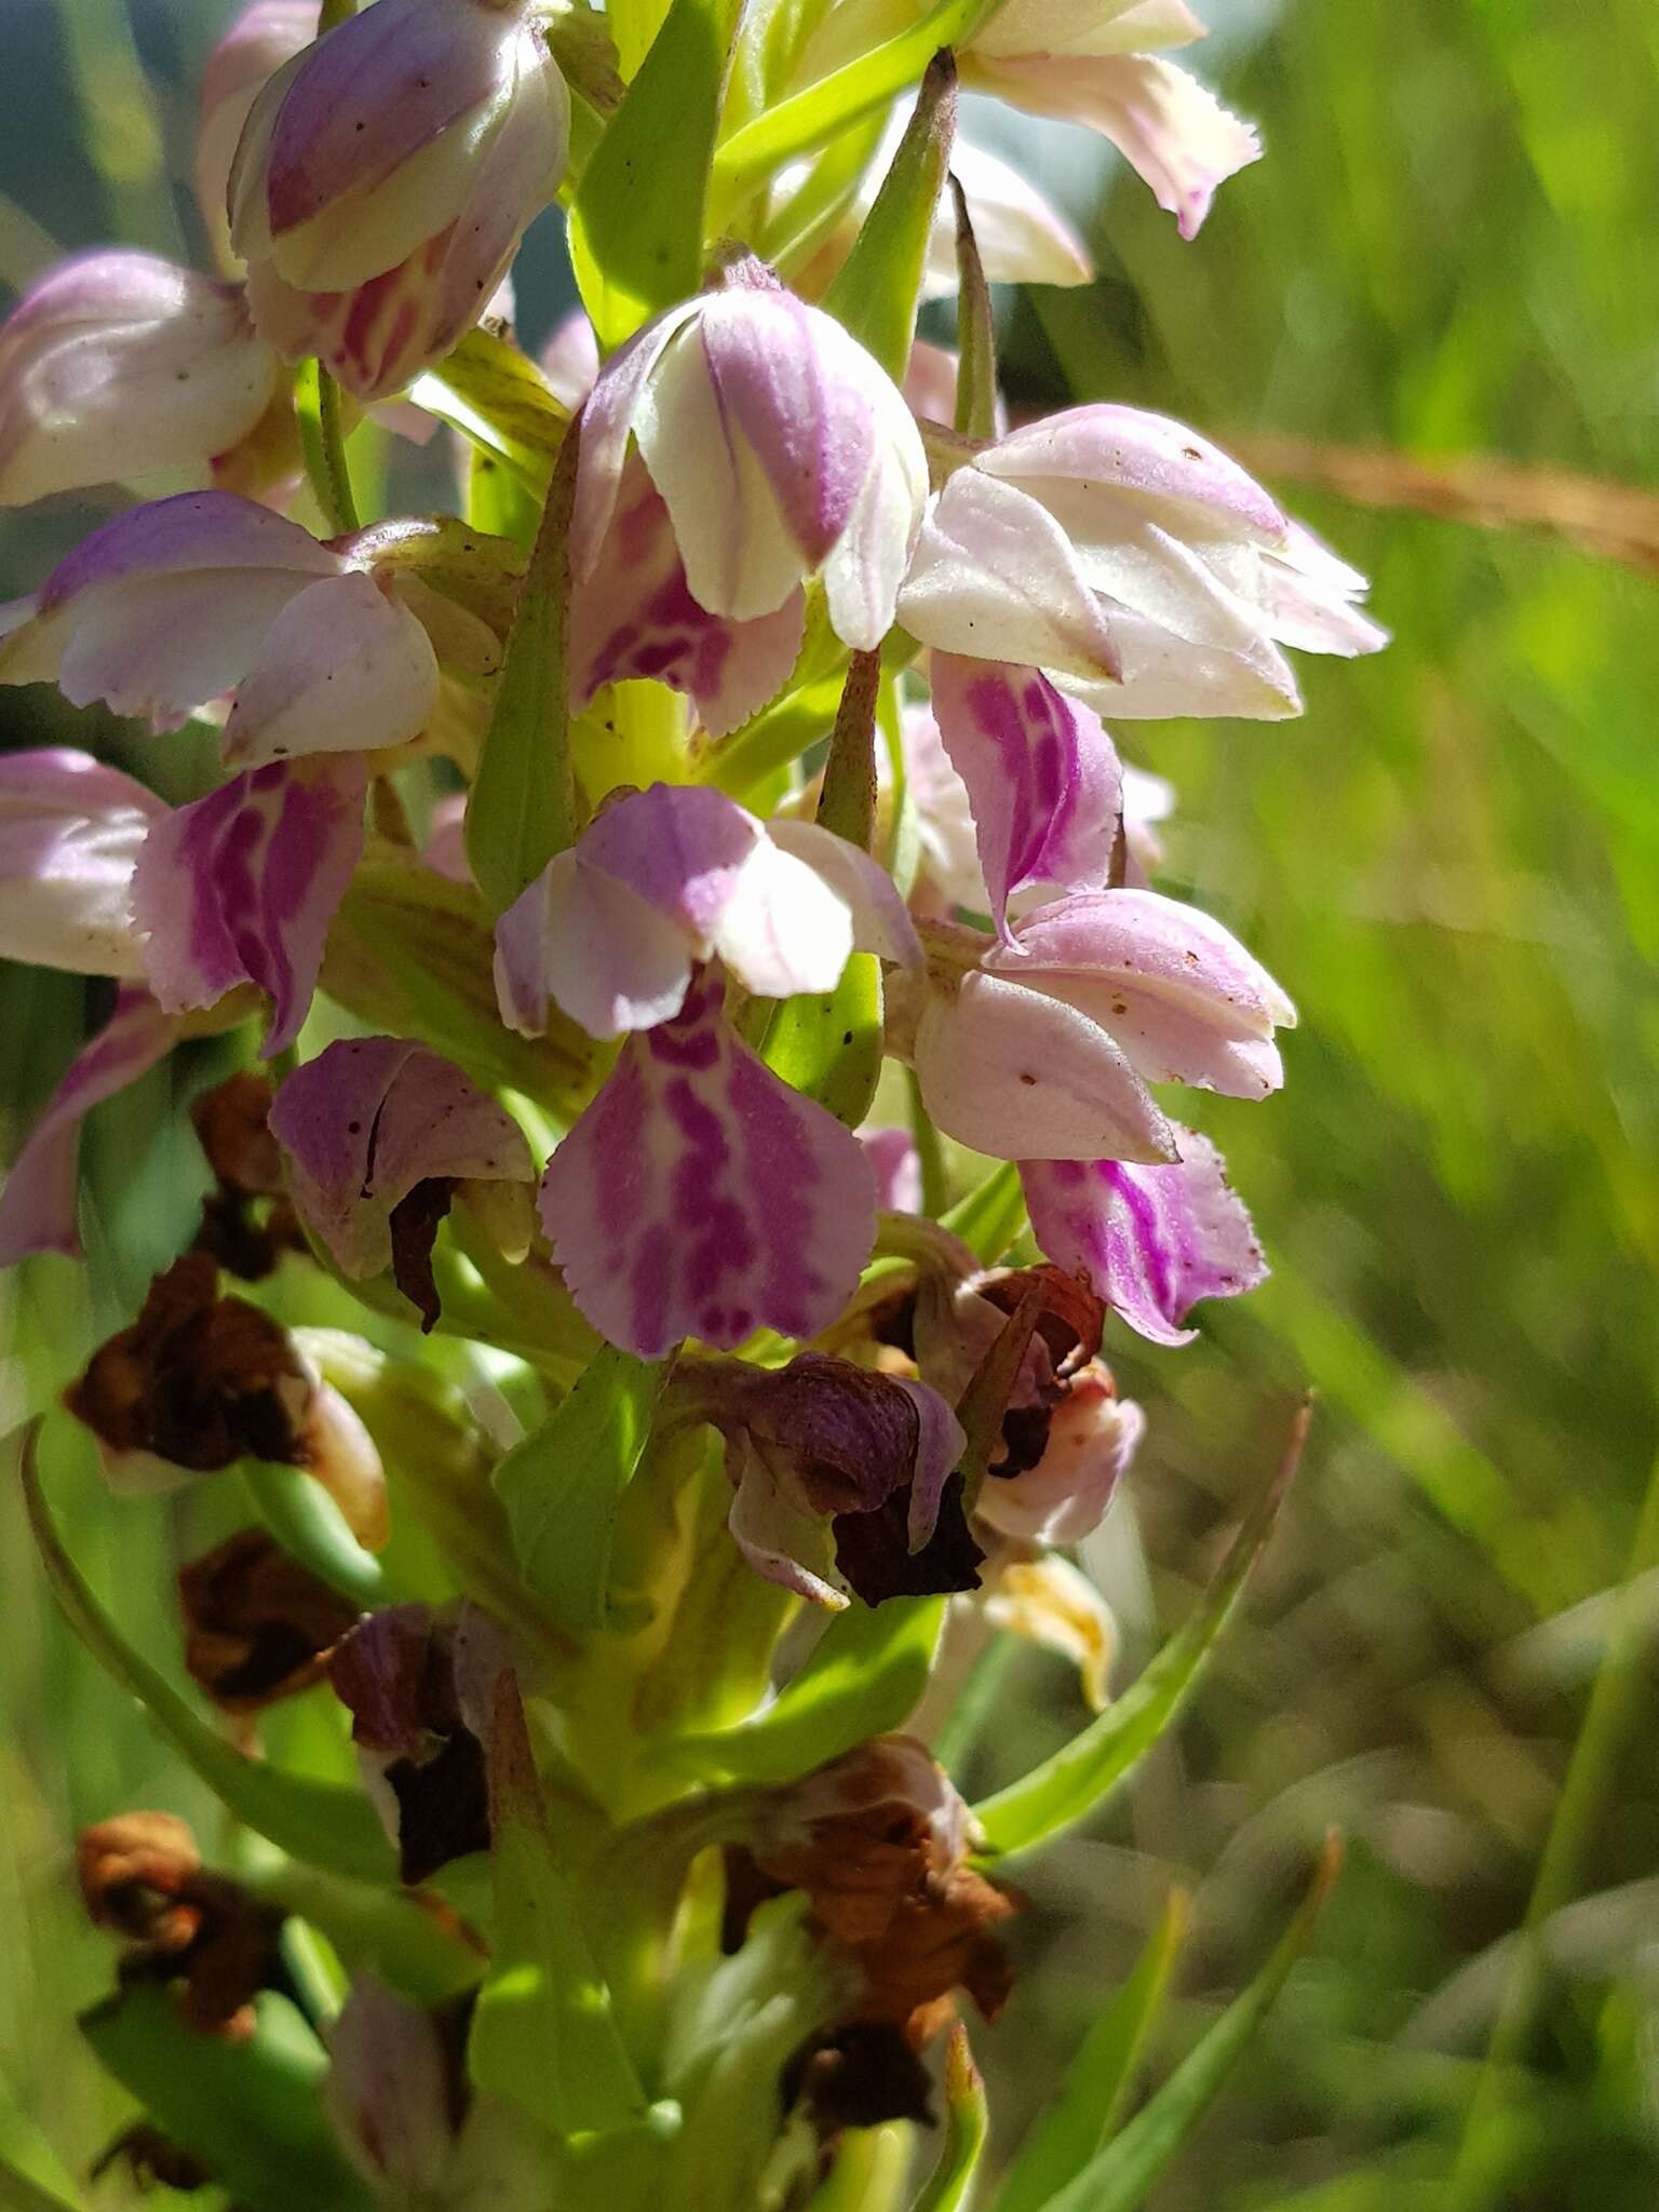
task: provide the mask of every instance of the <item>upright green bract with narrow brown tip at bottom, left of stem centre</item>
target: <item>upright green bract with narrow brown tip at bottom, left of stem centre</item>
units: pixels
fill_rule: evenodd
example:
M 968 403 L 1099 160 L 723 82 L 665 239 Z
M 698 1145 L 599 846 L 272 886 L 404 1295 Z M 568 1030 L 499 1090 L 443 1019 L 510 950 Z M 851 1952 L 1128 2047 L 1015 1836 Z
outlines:
M 553 1851 L 511 1672 L 495 1683 L 489 1832 L 495 1929 L 467 2044 L 471 2077 L 566 2137 L 628 2128 L 646 2117 L 646 2093 Z

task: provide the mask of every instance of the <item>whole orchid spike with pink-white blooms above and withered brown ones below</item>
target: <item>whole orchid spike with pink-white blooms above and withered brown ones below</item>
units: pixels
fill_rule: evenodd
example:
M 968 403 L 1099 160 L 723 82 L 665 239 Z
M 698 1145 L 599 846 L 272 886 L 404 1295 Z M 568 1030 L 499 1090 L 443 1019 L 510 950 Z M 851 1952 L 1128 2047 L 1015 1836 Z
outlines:
M 283 1920 L 336 1916 L 338 2203 L 591 2201 L 599 2143 L 619 2203 L 684 2157 L 741 2212 L 931 2115 L 1020 1900 L 896 1730 L 940 1630 L 1106 1705 L 1113 1343 L 1265 1274 L 1188 1117 L 1281 1086 L 1294 1006 L 1159 887 L 1175 792 L 1115 730 L 1285 719 L 1292 653 L 1383 644 L 1208 438 L 993 389 L 982 276 L 1088 259 L 953 142 L 956 73 L 1190 239 L 1259 146 L 1164 58 L 1179 0 L 1006 0 L 914 113 L 856 91 L 911 0 L 741 27 L 701 91 L 681 15 L 641 64 L 542 0 L 254 0 L 201 93 L 212 274 L 95 252 L 0 327 L 0 502 L 161 493 L 0 608 L 0 684 L 137 726 L 0 761 L 0 953 L 113 984 L 0 1265 L 80 1254 L 88 1113 L 190 1086 L 199 1225 L 64 1411 L 122 1500 L 246 1471 L 184 1663 L 248 1750 L 332 1697 L 365 1792 L 215 1745 L 327 1878 L 246 1896 L 139 1814 L 84 1893 L 119 2004 L 254 2042 Z M 697 131 L 706 199 L 664 192 Z M 560 197 L 538 365 L 509 276 Z M 960 361 L 914 338 L 958 288 Z M 365 447 L 438 422 L 456 511 L 361 515 Z

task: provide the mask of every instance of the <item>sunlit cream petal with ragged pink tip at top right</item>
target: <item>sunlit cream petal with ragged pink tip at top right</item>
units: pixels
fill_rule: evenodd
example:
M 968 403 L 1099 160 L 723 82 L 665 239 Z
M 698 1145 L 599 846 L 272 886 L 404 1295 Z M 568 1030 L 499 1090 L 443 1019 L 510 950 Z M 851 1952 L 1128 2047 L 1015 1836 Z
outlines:
M 1029 53 L 973 62 L 964 82 L 1029 115 L 1091 124 L 1152 188 L 1183 239 L 1197 237 L 1217 186 L 1261 159 L 1252 124 L 1175 62 L 1146 53 Z

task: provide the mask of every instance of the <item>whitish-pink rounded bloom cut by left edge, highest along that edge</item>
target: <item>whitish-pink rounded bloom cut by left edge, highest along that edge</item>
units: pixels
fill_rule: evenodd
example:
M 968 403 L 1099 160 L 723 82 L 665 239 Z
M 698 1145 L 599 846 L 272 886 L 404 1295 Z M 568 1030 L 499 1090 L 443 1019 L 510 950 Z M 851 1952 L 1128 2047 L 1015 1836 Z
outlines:
M 139 252 L 64 261 L 0 325 L 0 507 L 161 469 L 206 482 L 276 376 L 237 285 Z

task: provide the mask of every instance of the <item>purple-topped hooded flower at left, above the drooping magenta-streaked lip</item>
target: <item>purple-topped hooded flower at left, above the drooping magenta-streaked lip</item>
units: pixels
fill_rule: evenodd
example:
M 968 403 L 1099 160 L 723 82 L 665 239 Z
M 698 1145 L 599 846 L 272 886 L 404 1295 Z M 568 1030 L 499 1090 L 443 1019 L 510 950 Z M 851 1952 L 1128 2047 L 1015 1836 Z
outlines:
M 234 688 L 234 768 L 403 745 L 438 701 L 427 633 L 392 586 L 230 491 L 115 515 L 0 615 L 0 684 L 49 679 L 155 730 Z

